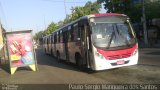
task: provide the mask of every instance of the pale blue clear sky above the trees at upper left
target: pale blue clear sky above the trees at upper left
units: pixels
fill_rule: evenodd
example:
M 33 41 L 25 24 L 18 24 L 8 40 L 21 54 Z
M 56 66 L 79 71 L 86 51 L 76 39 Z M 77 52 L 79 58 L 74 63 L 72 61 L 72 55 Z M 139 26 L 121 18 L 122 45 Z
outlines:
M 84 6 L 87 1 L 65 0 L 66 13 L 71 7 Z M 105 10 L 101 10 L 101 13 Z M 6 31 L 33 30 L 33 33 L 47 28 L 51 22 L 64 20 L 64 0 L 0 0 L 0 21 Z

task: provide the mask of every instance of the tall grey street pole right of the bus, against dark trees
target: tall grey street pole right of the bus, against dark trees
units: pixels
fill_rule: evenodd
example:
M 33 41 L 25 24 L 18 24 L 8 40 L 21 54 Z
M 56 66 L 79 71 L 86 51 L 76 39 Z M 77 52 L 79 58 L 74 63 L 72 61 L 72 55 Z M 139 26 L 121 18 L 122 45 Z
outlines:
M 145 43 L 145 46 L 148 47 L 148 35 L 147 35 L 147 27 L 146 27 L 146 15 L 145 15 L 145 5 L 144 5 L 144 0 L 142 0 L 142 15 L 143 15 L 143 19 L 142 19 L 142 22 L 143 22 L 143 34 L 144 34 L 144 43 Z

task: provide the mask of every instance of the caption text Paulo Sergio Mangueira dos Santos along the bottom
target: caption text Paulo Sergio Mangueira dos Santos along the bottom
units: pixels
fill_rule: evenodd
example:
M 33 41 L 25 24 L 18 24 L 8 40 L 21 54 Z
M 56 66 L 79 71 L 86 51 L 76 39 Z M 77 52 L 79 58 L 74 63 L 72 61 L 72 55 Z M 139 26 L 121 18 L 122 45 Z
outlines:
M 69 90 L 160 90 L 154 84 L 69 84 Z

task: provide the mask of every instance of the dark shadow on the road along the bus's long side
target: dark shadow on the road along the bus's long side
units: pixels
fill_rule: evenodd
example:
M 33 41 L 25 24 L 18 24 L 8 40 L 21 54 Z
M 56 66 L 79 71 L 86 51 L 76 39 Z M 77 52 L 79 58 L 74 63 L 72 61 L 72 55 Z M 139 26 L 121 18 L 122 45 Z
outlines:
M 68 69 L 72 71 L 92 73 L 92 71 L 86 70 L 84 68 L 78 68 L 76 67 L 76 65 L 65 62 L 63 60 L 58 62 L 55 57 L 45 54 L 42 49 L 36 50 L 36 57 L 37 57 L 38 65 L 48 65 L 48 66 L 57 67 L 61 69 Z

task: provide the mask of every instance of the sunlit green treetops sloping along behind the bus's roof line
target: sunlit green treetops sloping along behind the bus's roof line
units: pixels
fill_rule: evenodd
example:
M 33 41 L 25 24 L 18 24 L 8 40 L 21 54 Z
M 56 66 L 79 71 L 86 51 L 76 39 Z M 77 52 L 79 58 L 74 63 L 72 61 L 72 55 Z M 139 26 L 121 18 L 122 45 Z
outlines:
M 35 39 L 42 38 L 45 35 L 51 34 L 53 31 L 55 31 L 57 28 L 62 27 L 63 25 L 70 23 L 82 16 L 93 14 L 93 13 L 99 13 L 99 10 L 101 8 L 101 4 L 97 2 L 87 2 L 84 6 L 76 6 L 72 7 L 71 14 L 66 15 L 66 18 L 63 21 L 59 21 L 58 23 L 51 22 L 51 24 L 48 25 L 47 29 L 44 31 L 40 31 L 36 33 Z

